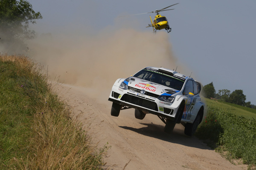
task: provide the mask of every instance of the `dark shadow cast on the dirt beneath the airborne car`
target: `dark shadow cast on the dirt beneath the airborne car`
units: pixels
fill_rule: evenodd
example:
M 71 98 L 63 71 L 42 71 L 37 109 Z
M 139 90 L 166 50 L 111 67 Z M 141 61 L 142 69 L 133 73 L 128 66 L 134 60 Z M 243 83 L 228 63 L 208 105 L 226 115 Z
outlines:
M 126 127 L 126 126 L 119 126 L 126 130 L 131 130 L 136 133 L 140 133 L 145 136 L 149 136 L 151 138 L 157 138 L 163 141 L 175 143 L 175 144 L 181 144 L 188 147 L 195 147 L 199 149 L 204 150 L 213 150 L 210 147 L 207 146 L 207 144 L 204 144 L 201 140 L 196 138 L 195 136 L 187 136 L 184 134 L 184 127 L 181 124 L 176 124 L 174 130 L 172 133 L 168 134 L 163 131 L 164 127 L 162 125 L 157 124 L 146 124 L 146 123 L 140 123 L 145 125 L 146 127 L 142 128 L 133 128 L 133 127 Z

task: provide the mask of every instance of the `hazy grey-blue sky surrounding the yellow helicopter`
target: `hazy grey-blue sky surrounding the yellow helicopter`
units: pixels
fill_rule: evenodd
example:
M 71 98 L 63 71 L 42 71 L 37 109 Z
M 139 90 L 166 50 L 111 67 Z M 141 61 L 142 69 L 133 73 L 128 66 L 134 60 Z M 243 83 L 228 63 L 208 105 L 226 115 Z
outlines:
M 231 92 L 242 89 L 246 101 L 256 105 L 255 0 L 28 1 L 34 11 L 43 16 L 43 19 L 31 26 L 38 35 L 51 33 L 53 37 L 67 36 L 70 43 L 75 43 L 81 38 L 93 40 L 93 37 L 100 41 L 99 37 L 106 35 L 118 39 L 115 35 L 120 34 L 120 30 L 123 35 L 126 34 L 125 29 L 133 29 L 136 34 L 150 37 L 142 39 L 156 41 L 147 49 L 147 55 L 154 53 L 155 58 L 160 58 L 154 51 L 161 50 L 159 46 L 164 46 L 163 43 L 169 43 L 178 71 L 183 70 L 185 75 L 192 72 L 192 77 L 203 85 L 213 82 L 216 93 L 220 89 Z M 160 12 L 169 21 L 172 28 L 170 33 L 160 30 L 154 35 L 152 28 L 146 28 L 150 23 L 149 15 L 154 17 L 154 13 L 119 17 L 151 12 L 175 3 L 179 3 L 171 7 L 175 10 Z M 70 32 L 73 32 L 71 37 Z M 80 36 L 83 32 L 85 36 Z M 128 35 L 129 32 L 127 30 Z M 134 40 L 138 41 L 136 38 Z M 137 46 L 140 45 L 147 43 L 141 40 Z M 144 58 L 146 60 L 146 56 Z

